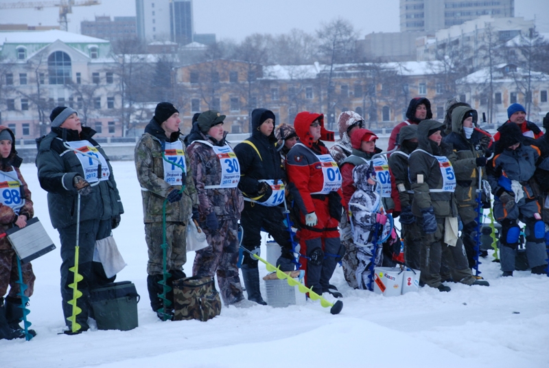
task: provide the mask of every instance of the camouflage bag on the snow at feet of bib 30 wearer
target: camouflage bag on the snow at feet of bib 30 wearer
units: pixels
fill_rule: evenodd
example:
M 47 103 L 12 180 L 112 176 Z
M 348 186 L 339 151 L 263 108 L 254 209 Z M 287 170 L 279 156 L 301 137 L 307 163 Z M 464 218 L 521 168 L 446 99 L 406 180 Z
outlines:
M 221 299 L 213 277 L 174 280 L 174 321 L 208 321 L 221 313 Z

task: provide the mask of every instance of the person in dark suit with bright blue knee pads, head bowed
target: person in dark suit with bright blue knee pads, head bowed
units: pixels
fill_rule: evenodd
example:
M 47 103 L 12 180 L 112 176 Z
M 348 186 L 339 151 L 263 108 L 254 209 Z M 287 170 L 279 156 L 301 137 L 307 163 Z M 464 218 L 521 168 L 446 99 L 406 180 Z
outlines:
M 536 170 L 549 168 L 548 159 L 538 162 L 540 150 L 524 144 L 517 124 L 504 124 L 499 129 L 494 157 L 487 164 L 488 181 L 494 195 L 493 214 L 502 225 L 500 232 L 500 264 L 504 276 L 513 276 L 515 253 L 519 244 L 520 227 L 526 224 L 526 255 L 532 273 L 543 274 L 547 267 L 545 223 L 530 179 Z

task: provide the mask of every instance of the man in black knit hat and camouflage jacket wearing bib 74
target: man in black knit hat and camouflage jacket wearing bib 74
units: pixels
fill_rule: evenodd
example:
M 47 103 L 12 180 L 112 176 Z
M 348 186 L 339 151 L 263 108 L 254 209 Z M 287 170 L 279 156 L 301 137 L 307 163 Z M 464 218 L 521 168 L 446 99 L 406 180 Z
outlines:
M 163 220 L 165 216 L 167 279 L 172 286 L 183 279 L 187 262 L 187 223 L 198 220 L 198 198 L 194 187 L 191 161 L 179 130 L 179 111 L 170 102 L 156 105 L 154 116 L 135 146 L 135 169 L 143 198 L 145 242 L 148 246 L 147 288 L 150 306 L 161 320 L 173 312 L 173 292 L 167 295 L 172 305 L 166 310 L 159 294 L 163 293 Z M 170 163 L 173 162 L 173 163 Z M 177 164 L 177 165 L 176 165 Z M 165 202 L 167 200 L 167 202 Z M 163 207 L 165 207 L 165 212 Z

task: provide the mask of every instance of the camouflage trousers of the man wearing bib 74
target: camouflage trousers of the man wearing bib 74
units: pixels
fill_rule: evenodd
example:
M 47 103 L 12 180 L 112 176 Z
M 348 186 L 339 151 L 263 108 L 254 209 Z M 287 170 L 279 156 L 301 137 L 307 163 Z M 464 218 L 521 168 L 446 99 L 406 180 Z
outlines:
M 148 275 L 163 273 L 163 231 L 162 222 L 145 224 L 145 242 L 147 242 L 149 261 Z M 166 222 L 166 270 L 183 270 L 187 262 L 187 225 L 183 222 Z

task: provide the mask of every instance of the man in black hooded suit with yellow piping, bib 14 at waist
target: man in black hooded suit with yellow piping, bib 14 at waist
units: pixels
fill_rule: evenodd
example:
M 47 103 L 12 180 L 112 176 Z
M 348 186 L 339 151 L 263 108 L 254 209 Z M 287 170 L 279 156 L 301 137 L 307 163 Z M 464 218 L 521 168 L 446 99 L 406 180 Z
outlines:
M 252 111 L 252 135 L 237 144 L 235 154 L 240 165 L 238 188 L 244 195 L 240 225 L 244 231 L 242 246 L 259 252 L 261 229 L 268 232 L 281 246 L 277 265 L 282 271 L 294 271 L 294 255 L 290 234 L 284 225 L 285 173 L 280 165 L 277 137 L 274 136 L 274 113 L 266 108 Z M 248 300 L 266 305 L 259 291 L 257 260 L 244 252 L 242 276 Z

